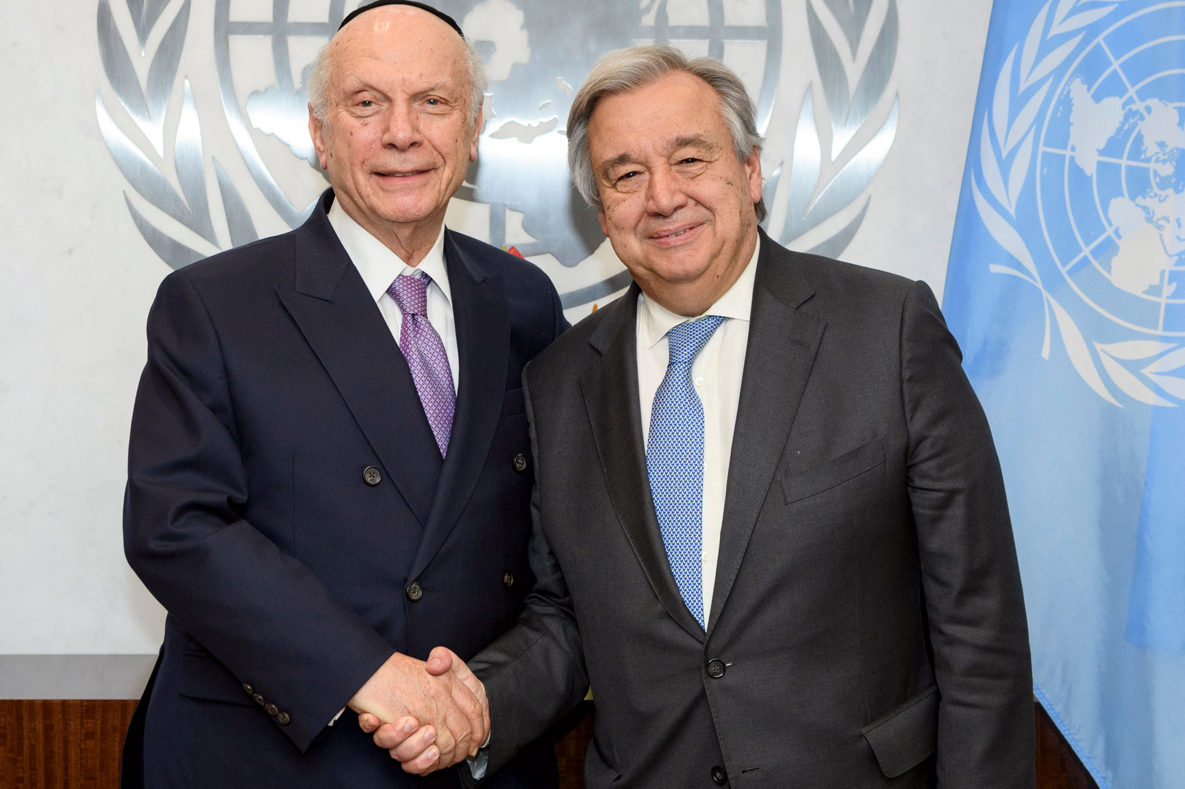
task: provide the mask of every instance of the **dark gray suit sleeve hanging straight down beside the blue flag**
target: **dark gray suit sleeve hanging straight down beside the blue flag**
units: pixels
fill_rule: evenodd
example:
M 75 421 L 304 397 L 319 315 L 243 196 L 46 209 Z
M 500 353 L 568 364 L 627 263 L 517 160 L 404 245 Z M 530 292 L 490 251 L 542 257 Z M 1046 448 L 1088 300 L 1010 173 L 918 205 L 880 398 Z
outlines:
M 939 705 L 944 789 L 1031 789 L 1029 628 L 992 434 L 937 302 L 921 282 L 901 325 L 907 475 Z

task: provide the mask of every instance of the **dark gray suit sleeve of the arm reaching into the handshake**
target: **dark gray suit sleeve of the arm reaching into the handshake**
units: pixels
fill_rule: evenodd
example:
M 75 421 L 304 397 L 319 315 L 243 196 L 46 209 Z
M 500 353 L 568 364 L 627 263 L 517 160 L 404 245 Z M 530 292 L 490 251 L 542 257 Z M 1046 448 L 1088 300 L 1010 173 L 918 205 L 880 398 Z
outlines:
M 559 315 L 563 317 L 562 313 Z M 486 775 L 504 766 L 520 749 L 558 723 L 581 703 L 589 687 L 572 601 L 542 522 L 539 486 L 546 482 L 547 468 L 542 462 L 545 458 L 539 456 L 529 373 L 530 365 L 524 371 L 523 385 L 536 458 L 530 541 L 536 580 L 518 623 L 469 661 L 489 698 L 489 768 Z

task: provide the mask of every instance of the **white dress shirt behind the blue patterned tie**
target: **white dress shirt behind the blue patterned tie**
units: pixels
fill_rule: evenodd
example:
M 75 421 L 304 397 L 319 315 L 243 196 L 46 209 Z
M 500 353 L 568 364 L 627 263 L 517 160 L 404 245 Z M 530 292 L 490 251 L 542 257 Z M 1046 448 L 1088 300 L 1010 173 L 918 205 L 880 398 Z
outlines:
M 691 380 L 704 404 L 704 511 L 700 578 L 705 621 L 712 610 L 716 586 L 716 560 L 720 551 L 720 525 L 724 520 L 724 495 L 729 481 L 729 456 L 732 430 L 741 402 L 741 374 L 749 346 L 749 315 L 752 312 L 752 286 L 757 272 L 761 239 L 741 277 L 728 293 L 709 307 L 704 315 L 728 320 L 696 357 Z M 702 317 L 702 316 L 697 316 Z M 666 376 L 671 361 L 667 332 L 694 317 L 677 315 L 645 294 L 638 296 L 638 397 L 642 415 L 643 441 L 649 444 L 651 410 L 654 393 Z

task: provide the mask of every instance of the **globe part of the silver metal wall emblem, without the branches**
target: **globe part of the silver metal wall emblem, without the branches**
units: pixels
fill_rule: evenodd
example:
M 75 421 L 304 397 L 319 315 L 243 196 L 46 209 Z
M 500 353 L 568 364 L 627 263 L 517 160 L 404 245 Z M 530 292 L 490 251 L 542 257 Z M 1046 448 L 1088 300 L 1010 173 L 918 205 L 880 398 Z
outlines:
M 256 186 L 289 226 L 326 182 L 308 140 L 308 71 L 354 0 L 217 0 L 214 56 L 223 108 Z M 440 0 L 486 57 L 489 92 L 479 161 L 454 198 L 450 226 L 515 251 L 555 281 L 565 308 L 629 284 L 596 213 L 572 190 L 564 126 L 596 59 L 671 43 L 732 66 L 773 110 L 781 65 L 780 0 Z M 305 163 L 302 165 L 301 161 Z

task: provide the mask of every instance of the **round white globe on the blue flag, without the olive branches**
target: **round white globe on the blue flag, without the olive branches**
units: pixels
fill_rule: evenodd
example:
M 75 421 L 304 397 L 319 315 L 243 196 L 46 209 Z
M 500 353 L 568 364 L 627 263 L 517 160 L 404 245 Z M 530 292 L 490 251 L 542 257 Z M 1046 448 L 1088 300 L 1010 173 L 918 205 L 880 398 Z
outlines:
M 1185 2 L 1133 13 L 1082 49 L 1039 136 L 1040 230 L 1098 314 L 1185 335 Z

